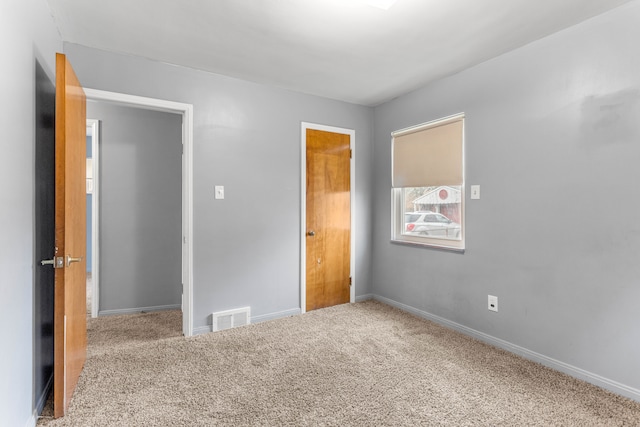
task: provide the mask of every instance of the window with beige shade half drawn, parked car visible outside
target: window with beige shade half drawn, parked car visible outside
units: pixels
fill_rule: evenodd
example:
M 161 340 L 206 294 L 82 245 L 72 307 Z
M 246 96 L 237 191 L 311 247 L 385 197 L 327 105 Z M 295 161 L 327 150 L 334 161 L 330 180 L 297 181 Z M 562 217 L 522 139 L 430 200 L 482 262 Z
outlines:
M 464 114 L 392 136 L 392 241 L 464 250 Z

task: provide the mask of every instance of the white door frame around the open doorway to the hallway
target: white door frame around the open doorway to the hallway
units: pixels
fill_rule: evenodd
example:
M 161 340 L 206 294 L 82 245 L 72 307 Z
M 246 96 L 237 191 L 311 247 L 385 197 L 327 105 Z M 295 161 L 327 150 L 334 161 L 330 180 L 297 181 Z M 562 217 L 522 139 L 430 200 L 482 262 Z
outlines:
M 182 116 L 182 333 L 190 337 L 193 335 L 193 105 L 98 89 L 85 88 L 84 91 L 87 100 Z M 94 260 L 96 258 L 94 256 Z

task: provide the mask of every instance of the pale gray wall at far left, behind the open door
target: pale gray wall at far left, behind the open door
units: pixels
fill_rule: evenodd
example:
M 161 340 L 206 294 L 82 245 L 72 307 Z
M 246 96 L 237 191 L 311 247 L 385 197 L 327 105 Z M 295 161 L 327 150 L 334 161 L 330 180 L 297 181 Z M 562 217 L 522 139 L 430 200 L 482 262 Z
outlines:
M 35 66 L 55 81 L 62 42 L 43 0 L 0 5 L 0 413 L 35 424 L 33 376 Z

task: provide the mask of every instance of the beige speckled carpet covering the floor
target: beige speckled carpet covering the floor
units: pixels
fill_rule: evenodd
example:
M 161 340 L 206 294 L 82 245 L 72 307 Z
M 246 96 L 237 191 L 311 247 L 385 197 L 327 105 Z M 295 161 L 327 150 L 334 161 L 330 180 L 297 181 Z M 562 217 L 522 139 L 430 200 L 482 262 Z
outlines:
M 91 319 L 66 417 L 39 426 L 640 426 L 640 403 L 369 301 L 180 336 Z

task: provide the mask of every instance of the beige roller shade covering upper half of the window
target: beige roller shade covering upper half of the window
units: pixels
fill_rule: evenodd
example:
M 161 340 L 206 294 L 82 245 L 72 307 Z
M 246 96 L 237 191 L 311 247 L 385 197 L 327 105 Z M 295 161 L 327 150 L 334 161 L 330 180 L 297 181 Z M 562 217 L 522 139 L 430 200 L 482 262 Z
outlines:
M 457 115 L 391 134 L 392 186 L 463 184 L 464 116 Z

